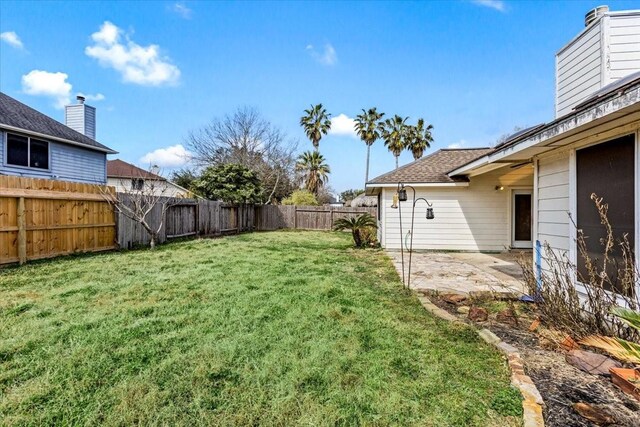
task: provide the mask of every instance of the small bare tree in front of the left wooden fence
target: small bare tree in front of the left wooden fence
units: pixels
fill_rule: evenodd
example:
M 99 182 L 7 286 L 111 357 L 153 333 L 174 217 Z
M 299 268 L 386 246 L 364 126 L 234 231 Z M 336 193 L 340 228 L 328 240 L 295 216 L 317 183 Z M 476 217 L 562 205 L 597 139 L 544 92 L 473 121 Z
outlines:
M 139 223 L 149 233 L 149 247 L 155 249 L 167 209 L 173 205 L 172 199 L 164 197 L 168 189 L 167 181 L 147 179 L 140 174 L 130 179 L 121 179 L 119 184 L 115 196 L 105 190 L 104 198 L 114 205 L 117 212 Z M 157 225 L 150 219 L 150 214 L 155 209 L 160 209 L 160 221 Z

